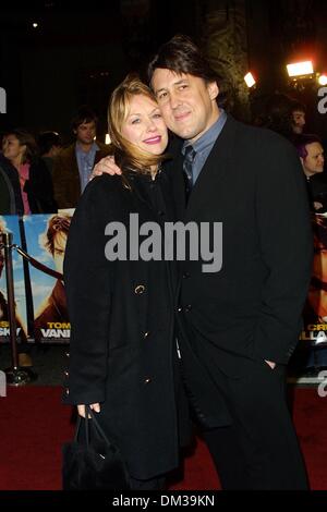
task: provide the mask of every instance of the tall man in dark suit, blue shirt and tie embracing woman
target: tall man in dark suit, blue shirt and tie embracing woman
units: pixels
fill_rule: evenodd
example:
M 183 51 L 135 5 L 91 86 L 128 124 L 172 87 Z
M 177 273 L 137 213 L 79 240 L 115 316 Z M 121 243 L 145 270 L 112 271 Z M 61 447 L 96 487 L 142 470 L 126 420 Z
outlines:
M 284 392 L 313 252 L 299 157 L 218 108 L 216 75 L 187 37 L 164 45 L 148 72 L 178 135 L 166 169 L 177 218 L 222 222 L 221 270 L 204 272 L 201 258 L 180 266 L 178 343 L 194 416 L 223 489 L 305 489 Z

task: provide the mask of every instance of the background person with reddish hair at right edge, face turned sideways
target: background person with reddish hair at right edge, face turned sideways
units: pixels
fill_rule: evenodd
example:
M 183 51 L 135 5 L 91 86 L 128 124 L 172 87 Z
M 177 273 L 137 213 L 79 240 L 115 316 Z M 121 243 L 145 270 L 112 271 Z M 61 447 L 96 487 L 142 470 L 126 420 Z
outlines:
M 327 210 L 327 180 L 322 141 L 317 135 L 299 135 L 296 149 L 306 178 L 311 207 L 313 211 L 324 214 Z

